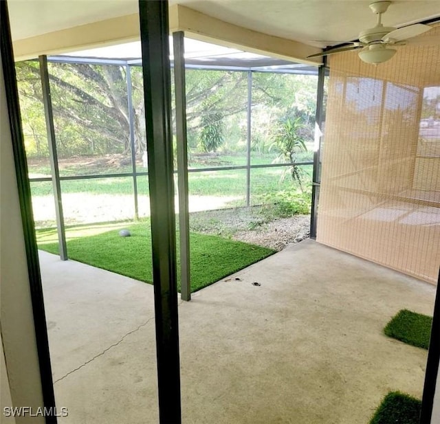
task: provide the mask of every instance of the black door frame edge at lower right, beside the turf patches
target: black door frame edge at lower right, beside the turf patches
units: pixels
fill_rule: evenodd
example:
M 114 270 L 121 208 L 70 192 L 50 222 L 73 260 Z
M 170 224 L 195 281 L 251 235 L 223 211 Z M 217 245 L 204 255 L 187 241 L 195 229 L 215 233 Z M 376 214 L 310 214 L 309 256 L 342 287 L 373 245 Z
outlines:
M 440 272 L 437 282 L 437 295 L 434 302 L 434 315 L 432 317 L 431 339 L 428 350 L 428 361 L 426 362 L 425 384 L 423 386 L 423 397 L 421 399 L 420 424 L 430 424 L 434 419 L 434 396 L 436 390 L 440 390 L 439 375 L 440 364 Z M 437 386 L 437 388 L 436 388 Z

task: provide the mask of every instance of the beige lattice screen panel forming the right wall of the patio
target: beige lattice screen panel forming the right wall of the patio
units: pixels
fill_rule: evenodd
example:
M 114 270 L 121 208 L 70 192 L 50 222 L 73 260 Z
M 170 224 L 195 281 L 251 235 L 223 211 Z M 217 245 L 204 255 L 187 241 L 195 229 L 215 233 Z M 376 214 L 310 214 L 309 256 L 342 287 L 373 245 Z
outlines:
M 331 56 L 317 240 L 435 283 L 439 207 L 440 47 Z

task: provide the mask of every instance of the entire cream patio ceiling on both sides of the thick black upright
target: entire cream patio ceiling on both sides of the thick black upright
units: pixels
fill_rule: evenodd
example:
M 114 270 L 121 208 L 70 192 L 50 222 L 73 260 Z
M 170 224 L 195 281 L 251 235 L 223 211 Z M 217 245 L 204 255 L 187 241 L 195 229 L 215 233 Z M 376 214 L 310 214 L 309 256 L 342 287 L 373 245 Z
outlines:
M 136 13 L 137 0 L 9 0 L 12 38 Z M 358 38 L 375 25 L 369 0 L 170 0 L 251 30 L 311 45 Z M 395 0 L 384 15 L 386 26 L 440 16 L 439 0 Z M 316 41 L 333 43 L 316 43 Z

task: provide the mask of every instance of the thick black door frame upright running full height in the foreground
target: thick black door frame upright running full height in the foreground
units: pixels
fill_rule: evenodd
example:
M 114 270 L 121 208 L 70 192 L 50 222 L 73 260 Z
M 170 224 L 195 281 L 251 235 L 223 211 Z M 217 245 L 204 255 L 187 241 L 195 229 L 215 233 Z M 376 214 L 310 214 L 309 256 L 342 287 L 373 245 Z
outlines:
M 140 0 L 139 9 L 153 247 L 159 422 L 178 424 L 181 423 L 181 401 L 168 2 Z

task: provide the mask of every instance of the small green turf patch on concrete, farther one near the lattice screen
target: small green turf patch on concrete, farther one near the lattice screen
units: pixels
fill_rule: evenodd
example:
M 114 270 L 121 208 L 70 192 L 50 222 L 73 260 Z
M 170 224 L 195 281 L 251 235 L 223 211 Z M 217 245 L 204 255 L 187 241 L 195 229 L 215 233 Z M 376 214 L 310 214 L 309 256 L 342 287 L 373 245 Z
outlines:
M 401 342 L 428 349 L 432 317 L 403 309 L 386 324 L 384 333 Z

